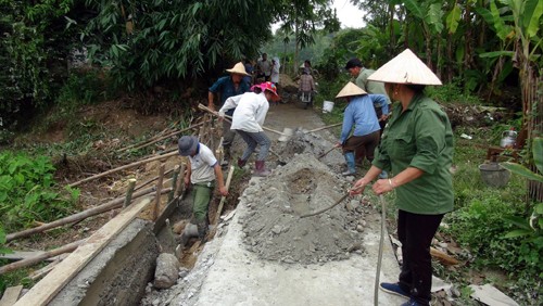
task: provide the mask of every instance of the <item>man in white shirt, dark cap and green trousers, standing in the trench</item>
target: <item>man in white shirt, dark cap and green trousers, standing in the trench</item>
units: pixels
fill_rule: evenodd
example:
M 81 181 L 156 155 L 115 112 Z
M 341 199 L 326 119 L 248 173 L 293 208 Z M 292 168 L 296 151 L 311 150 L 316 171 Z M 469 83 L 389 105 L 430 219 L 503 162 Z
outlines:
M 185 187 L 189 188 L 189 182 L 192 182 L 192 214 L 198 227 L 198 237 L 204 242 L 210 225 L 207 212 L 215 179 L 220 194 L 228 195 L 223 171 L 213 152 L 205 144 L 200 143 L 197 137 L 184 136 L 179 139 L 179 155 L 189 157 Z

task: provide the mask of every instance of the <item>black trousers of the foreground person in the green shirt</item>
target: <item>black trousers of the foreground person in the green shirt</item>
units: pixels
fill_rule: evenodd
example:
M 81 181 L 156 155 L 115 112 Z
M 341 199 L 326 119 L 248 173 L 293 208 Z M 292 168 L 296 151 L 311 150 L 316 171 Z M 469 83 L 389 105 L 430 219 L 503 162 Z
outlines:
M 397 239 L 402 242 L 403 265 L 400 286 L 421 305 L 430 305 L 432 258 L 430 244 L 443 215 L 397 212 Z

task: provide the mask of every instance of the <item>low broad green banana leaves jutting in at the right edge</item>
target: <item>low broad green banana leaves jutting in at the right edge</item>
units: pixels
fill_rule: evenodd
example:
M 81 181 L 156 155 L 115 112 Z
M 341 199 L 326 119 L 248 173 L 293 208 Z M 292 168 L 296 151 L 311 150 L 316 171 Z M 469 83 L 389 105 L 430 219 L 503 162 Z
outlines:
M 527 167 L 517 163 L 501 163 L 500 165 L 507 170 L 525 177 L 529 180 L 543 182 L 543 138 L 536 137 L 533 139 L 532 145 L 533 163 L 535 164 L 536 171 L 531 171 Z M 533 207 L 532 215 L 528 222 L 521 217 L 506 217 L 506 220 L 516 225 L 518 229 L 507 233 L 506 238 L 531 235 L 533 238 L 541 237 L 543 230 L 543 203 L 536 203 Z M 539 234 L 538 234 L 539 233 Z

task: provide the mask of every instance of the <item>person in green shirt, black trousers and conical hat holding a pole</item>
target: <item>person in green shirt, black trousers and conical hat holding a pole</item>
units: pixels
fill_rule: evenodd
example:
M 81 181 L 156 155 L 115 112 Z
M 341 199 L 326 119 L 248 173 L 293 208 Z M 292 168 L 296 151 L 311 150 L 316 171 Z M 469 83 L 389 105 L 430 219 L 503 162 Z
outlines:
M 380 288 L 407 298 L 403 306 L 430 305 L 430 244 L 454 203 L 449 170 L 454 152 L 451 123 L 440 105 L 424 93 L 427 85 L 441 81 L 409 49 L 369 79 L 384 82 L 389 97 L 401 103 L 393 110 L 371 168 L 350 193 L 362 193 L 381 170 L 394 175 L 372 184 L 377 194 L 396 191 L 397 237 L 404 258 L 399 281 L 382 282 Z

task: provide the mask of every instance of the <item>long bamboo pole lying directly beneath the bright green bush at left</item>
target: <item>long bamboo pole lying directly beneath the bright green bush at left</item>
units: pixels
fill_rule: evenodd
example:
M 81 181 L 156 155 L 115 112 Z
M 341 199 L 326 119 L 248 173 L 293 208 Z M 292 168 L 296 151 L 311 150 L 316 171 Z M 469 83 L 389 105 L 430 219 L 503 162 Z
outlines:
M 169 189 L 167 189 L 167 191 L 169 191 Z M 138 192 L 132 194 L 132 200 L 140 197 L 140 196 L 143 196 L 143 195 L 147 195 L 147 194 L 152 193 L 152 192 L 154 192 L 154 188 L 149 188 L 149 189 L 138 191 Z M 165 190 L 163 192 L 165 192 Z M 88 217 L 118 208 L 123 205 L 124 201 L 125 201 L 124 196 L 117 197 L 109 203 L 102 204 L 102 205 L 97 206 L 97 207 L 89 208 L 87 211 L 83 211 L 83 212 L 77 213 L 75 215 L 67 216 L 65 218 L 58 219 L 58 220 L 54 220 L 54 221 L 49 222 L 49 224 L 45 224 L 45 225 L 39 226 L 39 227 L 26 229 L 26 230 L 14 232 L 14 233 L 9 233 L 5 237 L 5 242 L 10 242 L 10 241 L 15 240 L 15 239 L 28 237 L 28 235 L 31 235 L 31 234 L 35 234 L 38 232 L 46 231 L 48 229 L 58 228 L 60 226 L 64 226 L 67 224 L 80 221 L 80 220 L 86 219 Z

